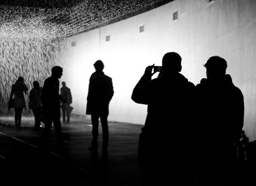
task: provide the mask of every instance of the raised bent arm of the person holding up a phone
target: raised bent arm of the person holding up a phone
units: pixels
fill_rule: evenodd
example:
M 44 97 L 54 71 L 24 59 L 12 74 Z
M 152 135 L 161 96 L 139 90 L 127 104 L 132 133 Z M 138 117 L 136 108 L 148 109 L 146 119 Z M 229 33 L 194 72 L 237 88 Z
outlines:
M 152 73 L 154 65 L 146 67 L 145 73 L 139 80 L 139 82 L 136 84 L 132 91 L 132 100 L 135 103 L 139 104 L 148 104 L 148 99 L 147 99 L 147 84 L 151 81 L 151 77 L 155 74 Z

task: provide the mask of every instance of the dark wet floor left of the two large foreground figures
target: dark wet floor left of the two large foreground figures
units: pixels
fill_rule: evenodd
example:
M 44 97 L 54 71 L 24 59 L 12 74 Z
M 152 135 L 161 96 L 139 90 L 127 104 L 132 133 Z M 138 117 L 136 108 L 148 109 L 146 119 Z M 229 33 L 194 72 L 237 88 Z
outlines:
M 75 117 L 62 124 L 65 151 L 59 151 L 54 128 L 49 151 L 38 148 L 41 131 L 33 118 L 24 117 L 14 128 L 13 117 L 0 117 L 1 185 L 140 185 L 137 165 L 138 138 L 142 125 L 109 122 L 108 154 L 91 154 L 91 121 Z M 102 142 L 99 128 L 99 144 Z

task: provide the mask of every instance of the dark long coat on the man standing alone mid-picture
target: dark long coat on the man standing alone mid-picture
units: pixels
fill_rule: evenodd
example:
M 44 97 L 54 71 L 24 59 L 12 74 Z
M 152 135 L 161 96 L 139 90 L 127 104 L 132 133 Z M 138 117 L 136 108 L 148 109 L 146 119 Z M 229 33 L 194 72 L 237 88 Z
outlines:
M 108 115 L 114 95 L 112 79 L 102 71 L 92 73 L 87 96 L 86 114 Z

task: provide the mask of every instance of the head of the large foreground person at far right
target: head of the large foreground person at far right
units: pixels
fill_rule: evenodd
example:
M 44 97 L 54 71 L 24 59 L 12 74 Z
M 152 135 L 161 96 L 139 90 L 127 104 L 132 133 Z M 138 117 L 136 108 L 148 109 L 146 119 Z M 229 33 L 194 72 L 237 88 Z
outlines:
M 222 57 L 212 56 L 204 64 L 207 78 L 220 77 L 226 74 L 227 62 Z

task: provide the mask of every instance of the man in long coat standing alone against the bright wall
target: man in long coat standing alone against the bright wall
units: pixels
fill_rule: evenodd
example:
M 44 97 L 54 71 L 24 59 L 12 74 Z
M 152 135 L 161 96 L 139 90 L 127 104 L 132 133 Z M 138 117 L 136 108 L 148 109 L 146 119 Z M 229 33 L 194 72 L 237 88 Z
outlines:
M 114 95 L 112 79 L 104 74 L 104 64 L 101 60 L 93 64 L 95 72 L 92 73 L 87 96 L 86 114 L 91 115 L 92 120 L 92 143 L 89 150 L 98 148 L 99 118 L 102 126 L 103 143 L 102 150 L 108 148 L 108 114 L 109 102 Z

